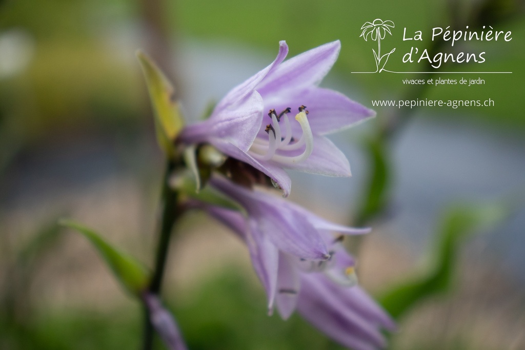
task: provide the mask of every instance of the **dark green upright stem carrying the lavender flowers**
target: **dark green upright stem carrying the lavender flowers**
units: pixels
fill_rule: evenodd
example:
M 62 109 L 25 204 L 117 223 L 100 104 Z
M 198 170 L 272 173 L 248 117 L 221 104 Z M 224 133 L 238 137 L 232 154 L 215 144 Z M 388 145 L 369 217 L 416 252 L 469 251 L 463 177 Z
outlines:
M 169 178 L 175 169 L 176 163 L 172 160 L 167 161 L 164 178 L 162 181 L 162 217 L 160 222 L 159 245 L 155 256 L 155 267 L 153 277 L 147 293 L 160 295 L 164 278 L 167 254 L 170 247 L 171 232 L 178 218 L 182 215 L 182 210 L 178 207 L 178 192 L 170 188 Z M 153 346 L 153 325 L 150 322 L 148 307 L 144 305 L 144 342 L 143 349 L 151 350 Z

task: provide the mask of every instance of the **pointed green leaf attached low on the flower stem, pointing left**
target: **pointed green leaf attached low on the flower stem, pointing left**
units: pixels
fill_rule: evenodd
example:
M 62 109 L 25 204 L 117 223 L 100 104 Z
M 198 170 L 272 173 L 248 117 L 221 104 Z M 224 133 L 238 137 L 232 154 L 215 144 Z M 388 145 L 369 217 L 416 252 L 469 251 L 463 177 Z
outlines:
M 106 263 L 125 290 L 139 297 L 146 290 L 150 280 L 150 272 L 141 262 L 129 254 L 112 247 L 97 232 L 78 224 L 78 222 L 62 219 L 59 221 L 59 224 L 75 229 L 89 239 L 102 258 L 106 260 Z

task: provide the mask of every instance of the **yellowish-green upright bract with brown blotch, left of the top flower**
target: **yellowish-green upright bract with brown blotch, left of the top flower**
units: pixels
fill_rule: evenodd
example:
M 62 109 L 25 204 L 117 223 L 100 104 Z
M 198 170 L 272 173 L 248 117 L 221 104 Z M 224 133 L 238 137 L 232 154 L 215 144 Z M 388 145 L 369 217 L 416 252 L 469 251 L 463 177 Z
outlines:
M 153 113 L 155 115 L 155 130 L 161 149 L 173 157 L 173 142 L 184 126 L 184 118 L 177 99 L 175 89 L 155 62 L 144 52 L 137 51 L 148 91 L 150 93 Z

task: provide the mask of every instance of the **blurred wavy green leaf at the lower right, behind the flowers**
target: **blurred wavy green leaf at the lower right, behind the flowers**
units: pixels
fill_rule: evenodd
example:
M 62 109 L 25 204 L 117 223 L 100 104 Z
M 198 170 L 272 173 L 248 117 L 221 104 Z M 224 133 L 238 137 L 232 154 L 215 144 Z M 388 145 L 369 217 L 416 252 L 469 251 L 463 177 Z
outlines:
M 510 212 L 511 208 L 502 203 L 471 204 L 448 210 L 436 235 L 433 267 L 420 277 L 388 290 L 379 298 L 380 303 L 398 319 L 418 302 L 446 292 L 452 285 L 458 250 L 464 240 L 498 224 Z

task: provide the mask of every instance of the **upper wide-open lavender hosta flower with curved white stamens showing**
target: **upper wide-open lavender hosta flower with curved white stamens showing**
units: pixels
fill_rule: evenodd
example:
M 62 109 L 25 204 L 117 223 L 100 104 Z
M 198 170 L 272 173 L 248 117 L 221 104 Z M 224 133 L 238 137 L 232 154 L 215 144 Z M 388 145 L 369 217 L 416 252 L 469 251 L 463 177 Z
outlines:
M 333 41 L 283 62 L 288 46 L 280 41 L 274 62 L 228 92 L 209 119 L 186 126 L 180 140 L 213 144 L 269 176 L 285 196 L 291 180 L 283 168 L 350 176 L 348 160 L 324 135 L 375 112 L 318 87 L 340 47 Z M 295 121 L 288 116 L 292 109 L 298 110 Z

